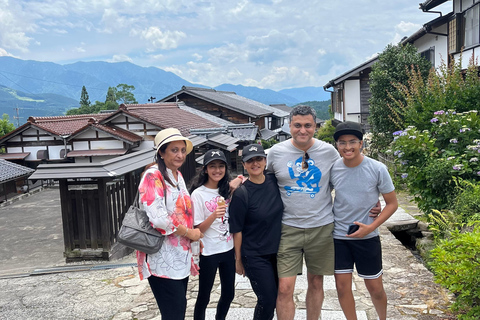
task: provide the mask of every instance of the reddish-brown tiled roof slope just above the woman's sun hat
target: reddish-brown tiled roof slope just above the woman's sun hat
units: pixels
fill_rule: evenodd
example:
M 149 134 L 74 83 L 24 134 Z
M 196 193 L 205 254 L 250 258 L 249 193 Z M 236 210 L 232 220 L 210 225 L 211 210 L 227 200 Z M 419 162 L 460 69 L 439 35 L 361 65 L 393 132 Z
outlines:
M 120 109 L 162 129 L 177 128 L 184 136 L 190 135 L 190 129 L 221 127 L 215 122 L 180 109 L 175 102 L 122 104 Z

